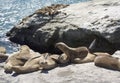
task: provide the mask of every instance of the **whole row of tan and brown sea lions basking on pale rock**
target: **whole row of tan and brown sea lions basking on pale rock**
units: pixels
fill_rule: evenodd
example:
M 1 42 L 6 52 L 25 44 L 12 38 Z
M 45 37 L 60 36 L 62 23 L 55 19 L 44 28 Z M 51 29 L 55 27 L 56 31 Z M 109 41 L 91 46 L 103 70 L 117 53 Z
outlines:
M 18 52 L 11 55 L 5 54 L 5 49 L 0 48 L 0 60 L 4 60 L 5 72 L 18 74 L 30 73 L 38 70 L 53 69 L 58 64 L 88 63 L 94 62 L 96 66 L 108 69 L 120 70 L 120 59 L 111 56 L 109 53 L 90 53 L 87 47 L 72 48 L 63 42 L 55 45 L 63 54 L 37 53 L 27 45 L 22 45 Z

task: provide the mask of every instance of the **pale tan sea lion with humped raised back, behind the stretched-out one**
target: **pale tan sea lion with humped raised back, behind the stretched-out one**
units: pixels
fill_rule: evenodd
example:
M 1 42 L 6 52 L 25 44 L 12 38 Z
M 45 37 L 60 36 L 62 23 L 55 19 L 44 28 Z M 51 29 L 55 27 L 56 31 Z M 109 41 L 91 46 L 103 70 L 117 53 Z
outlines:
M 12 72 L 12 66 L 23 66 L 33 56 L 35 54 L 31 53 L 30 48 L 27 45 L 22 45 L 20 51 L 11 54 L 6 60 L 4 65 L 5 72 Z

